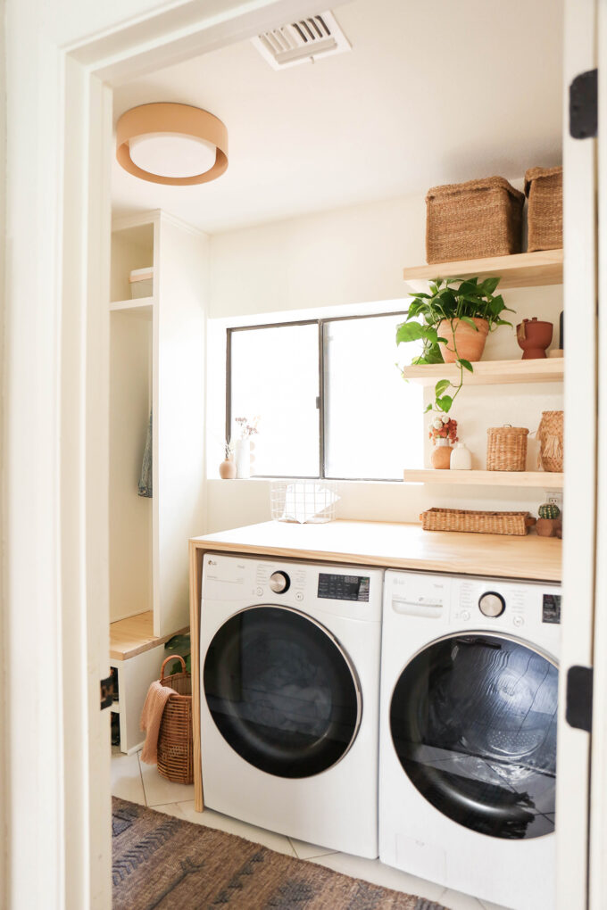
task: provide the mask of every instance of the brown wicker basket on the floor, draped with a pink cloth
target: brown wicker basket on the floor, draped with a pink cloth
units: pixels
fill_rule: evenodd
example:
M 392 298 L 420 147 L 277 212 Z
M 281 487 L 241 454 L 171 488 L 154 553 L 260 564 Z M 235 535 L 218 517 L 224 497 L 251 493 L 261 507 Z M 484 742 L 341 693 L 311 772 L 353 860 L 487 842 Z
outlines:
M 172 661 L 181 661 L 182 672 L 165 676 L 165 667 Z M 169 695 L 158 733 L 158 773 L 174 784 L 192 784 L 194 781 L 194 747 L 192 743 L 192 678 L 186 672 L 186 662 L 178 654 L 163 662 L 160 684 L 175 689 Z

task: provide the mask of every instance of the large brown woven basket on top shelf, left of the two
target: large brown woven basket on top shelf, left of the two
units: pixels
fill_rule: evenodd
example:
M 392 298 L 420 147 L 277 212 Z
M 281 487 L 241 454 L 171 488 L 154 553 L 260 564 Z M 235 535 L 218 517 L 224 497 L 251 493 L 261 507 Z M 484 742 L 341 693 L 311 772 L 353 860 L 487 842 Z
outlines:
M 426 196 L 427 261 L 520 253 L 524 201 L 503 177 L 432 187 Z

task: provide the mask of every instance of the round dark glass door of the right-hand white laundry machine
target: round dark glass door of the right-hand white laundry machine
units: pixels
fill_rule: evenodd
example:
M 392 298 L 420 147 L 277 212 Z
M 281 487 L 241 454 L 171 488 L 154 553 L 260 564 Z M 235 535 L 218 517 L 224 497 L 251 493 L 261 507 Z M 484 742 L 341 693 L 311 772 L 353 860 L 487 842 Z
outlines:
M 520 840 L 554 830 L 559 672 L 493 634 L 433 642 L 405 667 L 390 703 L 410 781 L 472 831 Z

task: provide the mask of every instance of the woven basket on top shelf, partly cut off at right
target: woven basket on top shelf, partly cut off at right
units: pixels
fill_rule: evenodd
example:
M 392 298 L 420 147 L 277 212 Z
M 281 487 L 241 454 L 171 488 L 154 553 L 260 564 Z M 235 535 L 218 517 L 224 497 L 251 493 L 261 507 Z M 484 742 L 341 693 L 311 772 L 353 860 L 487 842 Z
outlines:
M 529 197 L 527 222 L 530 253 L 562 247 L 562 167 L 531 167 L 525 173 Z

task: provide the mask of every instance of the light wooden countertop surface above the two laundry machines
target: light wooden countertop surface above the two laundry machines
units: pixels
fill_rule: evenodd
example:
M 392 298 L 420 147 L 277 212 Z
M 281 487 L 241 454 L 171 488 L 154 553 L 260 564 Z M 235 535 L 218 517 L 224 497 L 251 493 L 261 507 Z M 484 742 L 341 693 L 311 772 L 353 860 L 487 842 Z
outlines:
M 419 524 L 383 521 L 265 521 L 195 537 L 191 544 L 198 551 L 561 581 L 561 541 L 535 533 L 509 537 L 422 531 Z

